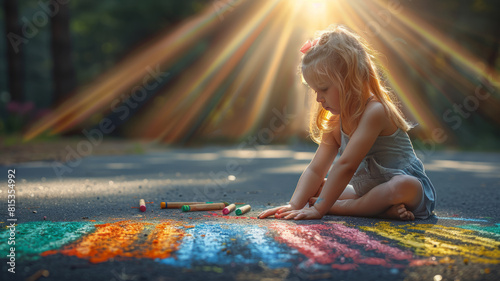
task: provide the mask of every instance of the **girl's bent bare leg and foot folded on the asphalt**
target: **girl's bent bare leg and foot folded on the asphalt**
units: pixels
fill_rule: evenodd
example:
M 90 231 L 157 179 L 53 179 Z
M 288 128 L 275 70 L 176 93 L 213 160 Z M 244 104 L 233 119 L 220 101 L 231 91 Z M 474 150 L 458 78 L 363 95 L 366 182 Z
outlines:
M 411 210 L 418 207 L 422 194 L 418 179 L 406 175 L 395 176 L 357 199 L 337 200 L 328 214 L 414 219 Z

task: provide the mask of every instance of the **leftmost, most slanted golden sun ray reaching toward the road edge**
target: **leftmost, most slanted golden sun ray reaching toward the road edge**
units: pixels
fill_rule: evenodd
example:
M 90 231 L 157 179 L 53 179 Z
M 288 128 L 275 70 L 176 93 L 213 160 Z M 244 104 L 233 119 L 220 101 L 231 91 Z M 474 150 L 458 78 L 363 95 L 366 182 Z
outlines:
M 151 46 L 135 51 L 96 82 L 60 104 L 52 114 L 35 122 L 24 134 L 24 140 L 30 140 L 47 130 L 51 134 L 64 132 L 97 110 L 107 110 L 114 99 L 148 74 L 148 67 L 167 63 L 181 55 L 187 46 L 196 43 L 203 33 L 213 29 L 218 23 L 218 15 L 229 8 L 230 5 L 222 6 L 222 10 L 210 7 L 171 34 L 160 37 Z

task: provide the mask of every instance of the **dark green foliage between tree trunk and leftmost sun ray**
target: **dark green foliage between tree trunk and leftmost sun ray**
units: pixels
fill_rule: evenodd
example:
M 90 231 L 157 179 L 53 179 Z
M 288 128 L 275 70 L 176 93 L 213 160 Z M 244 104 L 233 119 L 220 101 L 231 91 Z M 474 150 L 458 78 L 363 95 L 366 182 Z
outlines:
M 79 84 L 91 81 L 156 33 L 199 12 L 205 1 L 72 1 Z

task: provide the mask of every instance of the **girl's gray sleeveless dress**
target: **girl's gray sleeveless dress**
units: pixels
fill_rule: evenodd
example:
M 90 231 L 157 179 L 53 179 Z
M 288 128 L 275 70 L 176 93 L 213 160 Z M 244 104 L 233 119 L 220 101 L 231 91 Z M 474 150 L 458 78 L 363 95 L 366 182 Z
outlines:
M 342 129 L 339 154 L 345 150 L 349 136 Z M 396 175 L 416 177 L 423 188 L 420 205 L 413 211 L 415 218 L 426 219 L 434 210 L 436 190 L 425 174 L 424 165 L 415 155 L 408 134 L 399 129 L 389 136 L 379 136 L 352 177 L 351 184 L 358 196 L 363 196 L 375 186 L 389 181 Z

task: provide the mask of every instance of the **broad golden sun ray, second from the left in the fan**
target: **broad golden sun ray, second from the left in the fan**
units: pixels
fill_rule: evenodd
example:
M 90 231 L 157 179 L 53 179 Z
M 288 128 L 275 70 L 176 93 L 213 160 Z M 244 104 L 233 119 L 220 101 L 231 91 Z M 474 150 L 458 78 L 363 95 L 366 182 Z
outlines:
M 155 138 L 172 142 L 188 129 L 189 123 L 199 113 L 200 108 L 206 104 L 213 91 L 229 75 L 245 51 L 251 47 L 255 38 L 266 27 L 277 1 L 266 3 L 267 5 L 262 6 L 252 19 L 246 22 L 243 30 L 232 34 L 235 36 L 227 36 L 225 40 L 212 48 L 212 52 L 207 53 L 204 61 L 191 70 L 192 76 L 185 77 L 183 81 L 169 90 L 173 93 L 185 94 L 178 95 L 176 100 L 168 102 L 166 108 L 161 109 L 161 113 L 146 121 L 147 124 L 151 124 L 150 128 L 153 130 L 163 127 Z M 192 77 L 197 77 L 197 79 L 192 80 Z M 146 131 L 146 134 L 148 133 Z

